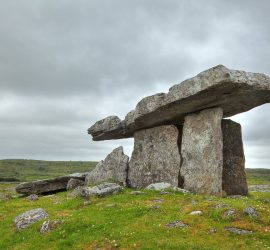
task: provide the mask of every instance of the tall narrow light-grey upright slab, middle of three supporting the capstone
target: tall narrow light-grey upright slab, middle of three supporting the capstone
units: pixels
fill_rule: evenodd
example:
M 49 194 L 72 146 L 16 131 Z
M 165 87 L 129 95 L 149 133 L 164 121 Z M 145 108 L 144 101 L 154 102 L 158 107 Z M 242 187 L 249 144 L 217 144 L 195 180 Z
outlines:
M 221 108 L 185 117 L 182 135 L 183 187 L 194 193 L 222 193 Z

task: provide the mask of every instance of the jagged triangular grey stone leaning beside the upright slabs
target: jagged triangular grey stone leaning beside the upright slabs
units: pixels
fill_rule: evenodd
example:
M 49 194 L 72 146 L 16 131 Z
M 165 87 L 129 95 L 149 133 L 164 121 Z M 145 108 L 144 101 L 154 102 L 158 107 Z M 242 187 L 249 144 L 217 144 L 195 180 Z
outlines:
M 104 161 L 100 161 L 95 169 L 86 176 L 86 183 L 94 185 L 105 181 L 126 185 L 129 157 L 124 154 L 123 147 L 114 149 Z

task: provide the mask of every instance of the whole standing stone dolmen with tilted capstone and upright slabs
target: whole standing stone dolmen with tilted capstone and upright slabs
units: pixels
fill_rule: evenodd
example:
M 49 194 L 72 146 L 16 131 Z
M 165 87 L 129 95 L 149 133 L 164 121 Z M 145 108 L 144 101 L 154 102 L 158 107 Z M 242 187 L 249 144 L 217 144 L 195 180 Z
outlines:
M 270 102 L 270 77 L 223 65 L 143 98 L 124 120 L 88 129 L 94 141 L 134 138 L 131 159 L 117 148 L 86 182 L 132 188 L 166 182 L 193 193 L 247 195 L 241 125 L 224 119 Z

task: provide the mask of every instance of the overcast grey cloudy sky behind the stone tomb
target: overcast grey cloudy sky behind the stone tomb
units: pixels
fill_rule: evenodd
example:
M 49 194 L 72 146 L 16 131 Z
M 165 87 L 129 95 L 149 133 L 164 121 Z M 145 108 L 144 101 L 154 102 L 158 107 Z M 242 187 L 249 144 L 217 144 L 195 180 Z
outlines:
M 101 160 L 133 140 L 87 128 L 223 64 L 270 75 L 270 1 L 0 0 L 0 158 Z M 270 104 L 241 122 L 247 167 L 270 167 Z

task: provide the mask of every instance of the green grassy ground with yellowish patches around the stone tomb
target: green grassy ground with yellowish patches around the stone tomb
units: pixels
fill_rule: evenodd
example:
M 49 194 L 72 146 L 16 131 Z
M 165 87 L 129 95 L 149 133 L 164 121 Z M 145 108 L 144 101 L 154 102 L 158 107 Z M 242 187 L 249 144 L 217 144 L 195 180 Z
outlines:
M 265 184 L 269 179 L 256 176 L 256 171 L 248 173 L 250 184 Z M 0 191 L 13 195 L 13 187 L 0 184 Z M 82 198 L 69 198 L 68 192 L 35 202 L 25 197 L 0 201 L 0 249 L 270 249 L 270 193 L 251 192 L 247 198 L 232 199 L 155 191 L 134 196 L 130 191 L 92 198 L 90 205 L 84 205 Z M 228 207 L 216 209 L 221 203 Z M 249 205 L 257 209 L 258 219 L 243 213 Z M 60 219 L 63 224 L 46 234 L 39 232 L 42 221 L 18 232 L 14 218 L 38 207 L 48 212 L 49 219 Z M 236 209 L 234 218 L 224 216 L 228 208 Z M 189 215 L 194 210 L 203 214 Z M 176 220 L 188 227 L 166 227 Z M 253 233 L 234 235 L 225 227 Z M 212 228 L 217 232 L 210 234 Z

